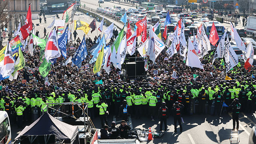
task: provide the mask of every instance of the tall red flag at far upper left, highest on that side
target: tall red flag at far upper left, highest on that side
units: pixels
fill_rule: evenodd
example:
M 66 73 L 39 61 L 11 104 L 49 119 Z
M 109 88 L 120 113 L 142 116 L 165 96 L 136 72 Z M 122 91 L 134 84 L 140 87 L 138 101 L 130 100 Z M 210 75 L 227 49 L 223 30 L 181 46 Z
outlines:
M 25 40 L 29 36 L 29 33 L 33 28 L 31 15 L 32 15 L 31 14 L 31 8 L 30 8 L 30 5 L 29 5 L 27 17 L 26 17 L 26 20 L 25 20 L 25 24 L 24 24 L 24 26 L 22 26 L 20 28 L 20 32 L 22 34 L 22 39 L 23 40 Z

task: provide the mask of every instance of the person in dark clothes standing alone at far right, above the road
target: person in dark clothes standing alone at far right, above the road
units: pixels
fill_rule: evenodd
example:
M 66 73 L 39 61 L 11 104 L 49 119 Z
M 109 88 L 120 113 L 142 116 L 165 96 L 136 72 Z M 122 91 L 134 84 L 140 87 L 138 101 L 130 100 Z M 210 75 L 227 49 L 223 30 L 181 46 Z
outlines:
M 229 105 L 230 108 L 232 108 L 232 120 L 233 120 L 233 129 L 237 130 L 239 128 L 239 113 L 241 110 L 241 104 L 239 103 L 239 99 L 235 98 L 233 102 Z

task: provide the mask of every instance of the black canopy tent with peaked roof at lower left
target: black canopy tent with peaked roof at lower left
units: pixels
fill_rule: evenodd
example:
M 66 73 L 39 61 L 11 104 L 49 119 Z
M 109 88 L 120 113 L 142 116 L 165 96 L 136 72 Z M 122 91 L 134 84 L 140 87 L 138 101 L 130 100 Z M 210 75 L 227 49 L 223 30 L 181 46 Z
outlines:
M 52 138 L 65 144 L 79 144 L 78 126 L 72 126 L 61 122 L 48 114 L 44 113 L 35 122 L 24 128 L 20 134 L 14 139 L 14 143 L 37 143 L 42 139 L 45 142 L 40 143 L 51 143 Z M 48 142 L 46 142 L 48 141 Z M 55 142 L 54 142 L 55 143 Z

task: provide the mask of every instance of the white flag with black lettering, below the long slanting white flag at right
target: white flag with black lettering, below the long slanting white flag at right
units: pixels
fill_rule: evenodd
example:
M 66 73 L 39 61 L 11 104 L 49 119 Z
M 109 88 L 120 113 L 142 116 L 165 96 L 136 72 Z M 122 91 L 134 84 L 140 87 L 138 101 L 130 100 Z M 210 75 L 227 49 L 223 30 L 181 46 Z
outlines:
M 234 66 L 236 66 L 238 64 L 238 56 L 236 55 L 236 52 L 234 51 L 234 49 L 232 48 L 228 38 L 227 38 L 227 42 L 226 42 L 226 46 L 225 46 L 225 50 L 224 50 L 224 58 L 225 58 L 225 66 L 226 66 L 226 73 L 228 73 L 228 71 L 231 68 L 234 68 Z

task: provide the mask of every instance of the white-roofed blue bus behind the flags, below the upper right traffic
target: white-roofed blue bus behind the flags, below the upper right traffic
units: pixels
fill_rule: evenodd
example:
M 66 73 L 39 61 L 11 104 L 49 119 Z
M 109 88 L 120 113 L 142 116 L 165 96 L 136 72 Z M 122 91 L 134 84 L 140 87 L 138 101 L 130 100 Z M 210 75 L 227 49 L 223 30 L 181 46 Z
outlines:
M 205 30 L 206 35 L 208 36 L 208 38 L 209 38 L 209 35 L 210 35 L 210 32 L 211 32 L 212 22 L 213 22 L 213 21 L 205 22 L 205 23 L 204 23 L 204 30 Z M 221 39 L 222 35 L 223 35 L 224 32 L 225 32 L 225 27 L 222 26 L 222 24 L 220 24 L 220 22 L 218 22 L 218 21 L 214 21 L 214 25 L 215 25 L 216 30 L 217 30 L 217 32 L 218 32 L 218 36 L 219 36 L 219 38 Z M 218 40 L 218 42 L 220 41 L 220 39 Z

